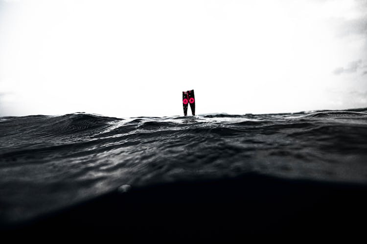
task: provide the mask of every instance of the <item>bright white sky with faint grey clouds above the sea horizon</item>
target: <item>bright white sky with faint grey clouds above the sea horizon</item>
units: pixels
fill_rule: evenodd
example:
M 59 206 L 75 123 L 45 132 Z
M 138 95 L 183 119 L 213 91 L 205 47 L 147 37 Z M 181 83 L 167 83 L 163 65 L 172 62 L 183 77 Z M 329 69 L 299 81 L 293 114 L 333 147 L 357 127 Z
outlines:
M 367 107 L 367 0 L 0 0 L 0 116 Z M 188 114 L 191 114 L 188 109 Z

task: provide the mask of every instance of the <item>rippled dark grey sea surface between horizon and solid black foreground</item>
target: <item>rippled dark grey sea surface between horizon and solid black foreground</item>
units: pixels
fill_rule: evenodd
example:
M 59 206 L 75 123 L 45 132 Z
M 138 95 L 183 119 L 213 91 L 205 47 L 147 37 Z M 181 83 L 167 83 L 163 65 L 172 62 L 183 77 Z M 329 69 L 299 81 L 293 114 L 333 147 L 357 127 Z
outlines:
M 241 180 L 229 184 L 231 179 Z M 344 197 L 356 189 L 361 192 L 354 197 L 366 193 L 367 108 L 163 118 L 120 119 L 85 113 L 0 118 L 2 229 L 47 223 L 68 209 L 103 202 L 106 196 L 110 204 L 114 202 L 111 194 L 149 192 L 153 186 L 170 187 L 167 194 L 161 193 L 164 202 L 173 201 L 172 192 L 181 191 L 180 196 L 190 198 L 187 191 L 217 182 L 202 189 L 203 194 L 210 189 L 211 197 L 219 195 L 219 202 L 235 203 L 240 195 L 257 196 L 258 192 L 245 191 L 255 191 L 257 185 L 269 181 L 285 182 L 285 186 L 264 186 L 268 192 L 264 201 L 279 198 L 276 191 L 287 192 L 284 189 L 299 182 L 315 189 L 349 187 Z M 218 185 L 227 188 L 213 189 Z M 264 192 L 264 187 L 259 190 Z M 308 186 L 302 187 L 300 192 L 303 189 L 313 197 Z M 227 196 L 229 188 L 233 192 Z M 200 198 L 202 193 L 197 191 L 195 197 Z M 141 194 L 145 202 L 161 196 Z M 320 199 L 323 193 L 318 194 Z M 241 198 L 244 203 L 245 198 Z M 118 201 L 123 204 L 125 200 Z M 73 211 L 75 216 L 82 210 Z

